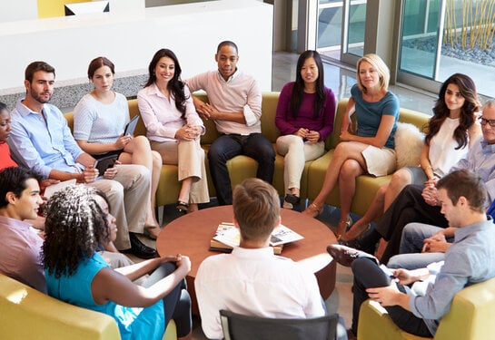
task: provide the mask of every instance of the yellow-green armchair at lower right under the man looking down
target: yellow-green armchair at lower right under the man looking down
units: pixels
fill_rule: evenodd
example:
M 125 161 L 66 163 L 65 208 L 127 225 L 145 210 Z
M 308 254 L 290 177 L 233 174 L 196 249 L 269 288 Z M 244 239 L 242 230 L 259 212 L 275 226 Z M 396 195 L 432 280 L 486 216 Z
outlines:
M 492 339 L 495 314 L 495 278 L 460 290 L 450 311 L 441 319 L 435 340 Z M 402 331 L 391 321 L 387 311 L 368 300 L 361 305 L 359 340 L 421 340 L 426 337 Z

